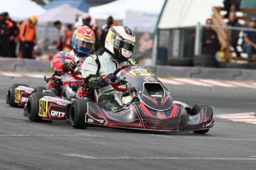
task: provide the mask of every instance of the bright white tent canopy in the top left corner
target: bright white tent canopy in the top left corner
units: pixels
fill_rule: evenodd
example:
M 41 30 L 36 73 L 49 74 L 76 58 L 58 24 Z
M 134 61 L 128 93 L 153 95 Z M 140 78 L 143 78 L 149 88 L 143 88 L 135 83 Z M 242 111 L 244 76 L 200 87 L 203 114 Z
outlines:
M 46 10 L 36 2 L 30 0 L 7 0 L 1 1 L 0 13 L 8 12 L 13 19 L 27 19 L 30 15 L 40 15 Z

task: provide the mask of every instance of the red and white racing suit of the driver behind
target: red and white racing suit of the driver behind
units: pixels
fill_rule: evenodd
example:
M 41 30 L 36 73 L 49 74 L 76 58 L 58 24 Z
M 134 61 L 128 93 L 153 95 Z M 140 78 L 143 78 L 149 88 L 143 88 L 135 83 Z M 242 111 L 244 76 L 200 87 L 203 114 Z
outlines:
M 64 72 L 63 71 L 63 64 L 71 62 L 71 61 L 79 61 L 78 67 L 74 70 L 74 72 Z M 73 50 L 71 51 L 61 51 L 58 52 L 51 61 L 51 67 L 56 75 L 61 75 L 62 84 L 63 84 L 63 91 L 62 95 L 66 98 L 74 97 L 76 92 L 74 92 L 69 86 L 68 82 L 71 85 L 76 83 L 82 83 L 82 75 L 79 74 L 79 70 L 82 67 L 83 59 L 79 58 Z

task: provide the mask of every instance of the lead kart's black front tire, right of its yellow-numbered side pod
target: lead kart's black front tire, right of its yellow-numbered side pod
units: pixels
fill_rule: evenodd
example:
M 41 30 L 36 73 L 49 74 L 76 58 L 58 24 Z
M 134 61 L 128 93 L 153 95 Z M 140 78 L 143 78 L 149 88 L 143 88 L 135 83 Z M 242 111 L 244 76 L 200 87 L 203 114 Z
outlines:
M 87 112 L 87 103 L 91 100 L 84 98 L 76 98 L 70 107 L 70 123 L 74 129 L 85 129 L 85 113 Z

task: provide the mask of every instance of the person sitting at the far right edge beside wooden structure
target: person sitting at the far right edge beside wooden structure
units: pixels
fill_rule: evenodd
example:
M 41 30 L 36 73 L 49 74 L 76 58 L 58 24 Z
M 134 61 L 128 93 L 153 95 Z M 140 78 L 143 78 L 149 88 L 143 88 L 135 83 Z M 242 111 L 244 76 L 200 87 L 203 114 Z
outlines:
M 256 18 L 252 17 L 249 22 L 249 28 L 256 28 Z M 252 58 L 252 54 L 256 53 L 256 32 L 244 31 L 243 32 L 243 50 L 246 51 L 248 58 Z

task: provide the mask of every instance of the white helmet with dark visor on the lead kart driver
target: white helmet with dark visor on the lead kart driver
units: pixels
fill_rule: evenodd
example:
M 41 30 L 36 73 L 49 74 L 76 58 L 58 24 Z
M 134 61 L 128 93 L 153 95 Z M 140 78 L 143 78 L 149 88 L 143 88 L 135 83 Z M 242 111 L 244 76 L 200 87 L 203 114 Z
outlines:
M 128 61 L 134 52 L 135 35 L 128 28 L 113 26 L 105 39 L 105 50 L 120 61 Z

